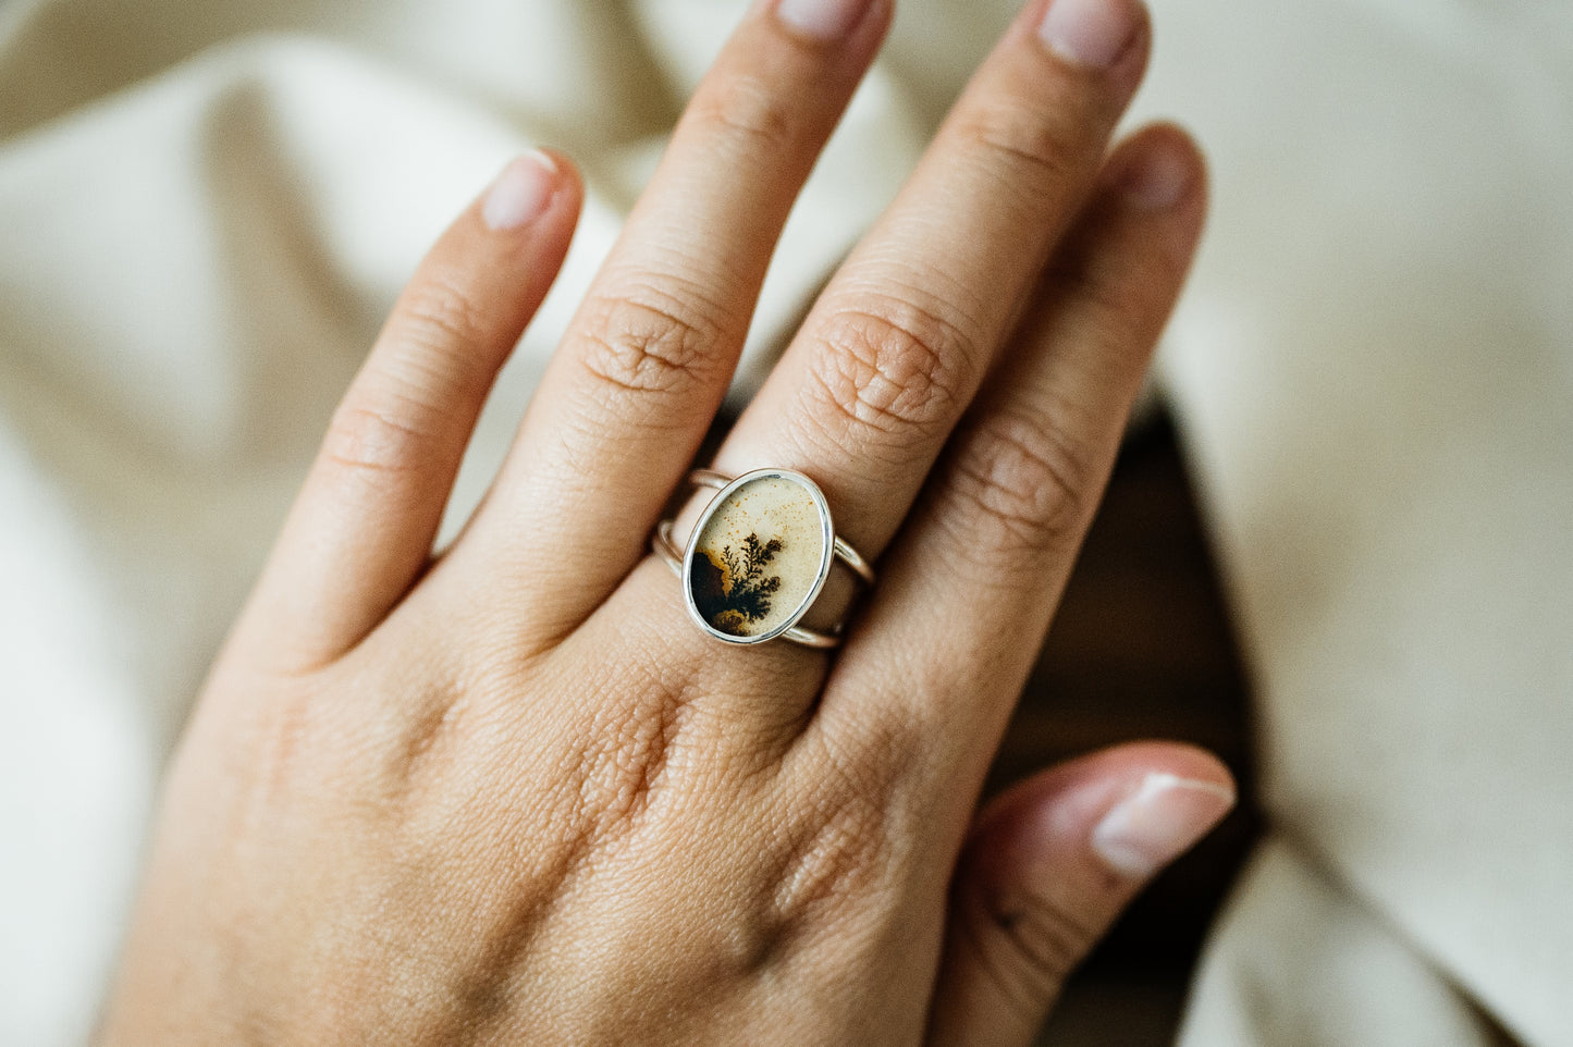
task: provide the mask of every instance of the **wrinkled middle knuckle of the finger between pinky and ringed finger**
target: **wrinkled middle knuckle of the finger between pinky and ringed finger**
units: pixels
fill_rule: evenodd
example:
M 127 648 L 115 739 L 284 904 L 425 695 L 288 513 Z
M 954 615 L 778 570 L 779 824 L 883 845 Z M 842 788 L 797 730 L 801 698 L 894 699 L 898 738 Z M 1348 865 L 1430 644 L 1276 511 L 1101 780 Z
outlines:
M 620 299 L 596 310 L 582 362 L 615 390 L 681 396 L 709 379 L 717 341 L 717 325 L 691 310 Z

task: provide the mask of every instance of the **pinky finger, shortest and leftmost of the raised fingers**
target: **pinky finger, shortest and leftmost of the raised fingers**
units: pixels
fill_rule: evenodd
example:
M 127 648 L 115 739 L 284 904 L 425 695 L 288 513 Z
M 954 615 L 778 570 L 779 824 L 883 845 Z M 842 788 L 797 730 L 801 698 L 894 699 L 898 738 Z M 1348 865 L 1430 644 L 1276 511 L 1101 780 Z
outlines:
M 415 582 L 492 380 L 557 278 L 582 190 L 513 160 L 404 288 L 333 413 L 238 640 L 305 670 L 362 640 Z

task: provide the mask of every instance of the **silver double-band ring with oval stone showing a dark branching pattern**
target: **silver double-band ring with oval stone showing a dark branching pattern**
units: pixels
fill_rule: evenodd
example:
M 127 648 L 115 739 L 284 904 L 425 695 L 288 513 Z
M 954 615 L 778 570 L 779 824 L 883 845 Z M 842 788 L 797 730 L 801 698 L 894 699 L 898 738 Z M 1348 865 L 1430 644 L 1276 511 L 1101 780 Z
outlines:
M 786 468 L 758 468 L 736 479 L 698 468 L 689 483 L 717 494 L 694 525 L 687 549 L 680 552 L 673 544 L 673 520 L 656 527 L 650 547 L 683 580 L 694 621 L 727 643 L 782 637 L 809 648 L 838 646 L 842 624 L 818 632 L 798 623 L 837 560 L 864 585 L 875 583 L 875 571 L 835 536 L 820 486 Z

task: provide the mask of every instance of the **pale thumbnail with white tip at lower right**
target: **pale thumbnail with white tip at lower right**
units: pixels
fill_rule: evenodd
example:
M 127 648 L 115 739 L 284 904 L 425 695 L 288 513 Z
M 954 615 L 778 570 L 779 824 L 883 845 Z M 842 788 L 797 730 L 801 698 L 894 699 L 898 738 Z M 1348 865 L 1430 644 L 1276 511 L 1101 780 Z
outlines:
M 1114 872 L 1145 880 L 1173 861 L 1235 805 L 1216 781 L 1150 773 L 1092 830 L 1092 847 Z

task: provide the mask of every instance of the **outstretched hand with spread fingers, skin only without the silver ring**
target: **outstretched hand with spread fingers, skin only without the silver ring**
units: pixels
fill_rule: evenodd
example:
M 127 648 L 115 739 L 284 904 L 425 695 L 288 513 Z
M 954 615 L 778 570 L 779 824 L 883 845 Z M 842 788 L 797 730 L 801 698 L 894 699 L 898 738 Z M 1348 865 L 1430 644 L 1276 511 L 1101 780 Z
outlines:
M 1134 3 L 1029 5 L 719 451 L 816 479 L 878 558 L 834 656 L 703 635 L 647 539 L 889 0 L 747 14 L 433 558 L 580 203 L 563 157 L 499 176 L 214 668 L 104 1042 L 1029 1042 L 1232 800 L 1148 744 L 974 819 L 1202 223 L 1183 134 L 1106 157 Z

